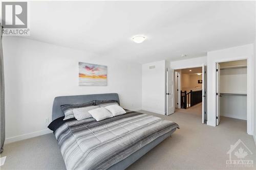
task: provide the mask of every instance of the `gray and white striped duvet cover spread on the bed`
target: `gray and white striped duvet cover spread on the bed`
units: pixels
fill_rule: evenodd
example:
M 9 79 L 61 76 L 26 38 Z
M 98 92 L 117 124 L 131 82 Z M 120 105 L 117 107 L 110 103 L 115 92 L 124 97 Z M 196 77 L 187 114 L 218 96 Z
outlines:
M 176 128 L 174 122 L 127 111 L 100 122 L 72 119 L 54 134 L 67 169 L 107 169 Z

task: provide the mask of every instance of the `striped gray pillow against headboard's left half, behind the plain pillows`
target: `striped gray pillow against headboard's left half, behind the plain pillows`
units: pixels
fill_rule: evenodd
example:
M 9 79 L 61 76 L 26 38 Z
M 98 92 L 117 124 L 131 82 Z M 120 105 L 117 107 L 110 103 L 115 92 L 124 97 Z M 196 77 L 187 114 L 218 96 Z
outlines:
M 88 107 L 93 106 L 94 102 L 82 103 L 82 104 L 69 104 L 69 105 L 61 105 L 60 108 L 62 112 L 65 114 L 65 118 L 63 120 L 67 120 L 70 118 L 74 118 L 73 109 L 80 107 Z

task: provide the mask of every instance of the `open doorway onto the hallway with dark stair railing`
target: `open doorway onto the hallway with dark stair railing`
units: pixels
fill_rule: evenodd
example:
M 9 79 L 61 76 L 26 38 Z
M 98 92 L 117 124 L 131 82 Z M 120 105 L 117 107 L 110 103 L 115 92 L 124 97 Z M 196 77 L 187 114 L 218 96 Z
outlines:
M 175 111 L 202 116 L 206 123 L 205 66 L 175 70 Z

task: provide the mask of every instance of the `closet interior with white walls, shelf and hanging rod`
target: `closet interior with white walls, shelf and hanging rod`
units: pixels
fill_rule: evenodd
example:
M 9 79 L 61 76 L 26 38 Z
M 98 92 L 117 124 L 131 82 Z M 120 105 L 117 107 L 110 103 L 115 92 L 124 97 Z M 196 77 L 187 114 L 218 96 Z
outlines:
M 216 90 L 216 125 L 225 124 L 226 117 L 246 124 L 247 60 L 217 63 Z

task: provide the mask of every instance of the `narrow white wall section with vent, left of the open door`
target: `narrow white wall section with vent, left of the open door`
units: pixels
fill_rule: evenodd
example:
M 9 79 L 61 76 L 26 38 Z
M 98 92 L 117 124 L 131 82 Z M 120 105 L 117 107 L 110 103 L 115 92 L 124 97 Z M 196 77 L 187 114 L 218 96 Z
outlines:
M 150 66 L 155 68 L 150 69 Z M 142 64 L 142 109 L 165 113 L 165 61 Z

